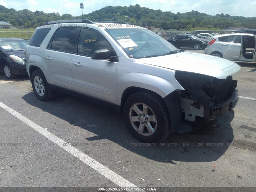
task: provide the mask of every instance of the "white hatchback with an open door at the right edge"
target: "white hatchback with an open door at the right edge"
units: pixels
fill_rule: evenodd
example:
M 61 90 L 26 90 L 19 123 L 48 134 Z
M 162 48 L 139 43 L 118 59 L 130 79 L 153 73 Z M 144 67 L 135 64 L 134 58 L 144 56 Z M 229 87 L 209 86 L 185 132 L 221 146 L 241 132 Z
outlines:
M 255 50 L 254 34 L 233 33 L 215 36 L 204 53 L 228 60 L 256 62 Z

